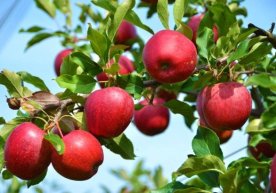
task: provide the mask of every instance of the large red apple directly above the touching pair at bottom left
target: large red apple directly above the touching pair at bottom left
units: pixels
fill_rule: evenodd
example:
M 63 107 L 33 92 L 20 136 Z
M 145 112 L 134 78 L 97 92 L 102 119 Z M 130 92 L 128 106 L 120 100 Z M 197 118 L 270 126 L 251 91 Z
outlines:
M 132 97 L 119 87 L 94 91 L 84 106 L 89 131 L 105 138 L 123 133 L 132 119 L 133 111 Z

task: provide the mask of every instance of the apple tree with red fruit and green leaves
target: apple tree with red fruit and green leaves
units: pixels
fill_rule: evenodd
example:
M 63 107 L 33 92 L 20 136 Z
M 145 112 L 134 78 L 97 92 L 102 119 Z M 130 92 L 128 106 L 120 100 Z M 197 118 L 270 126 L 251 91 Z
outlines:
M 275 24 L 244 26 L 242 1 L 92 0 L 76 4 L 74 26 L 69 0 L 35 0 L 50 19 L 64 15 L 64 24 L 20 33 L 34 34 L 26 49 L 60 38 L 64 50 L 53 65 L 62 92 L 52 93 L 27 71 L 1 71 L 7 104 L 17 111 L 12 120 L 0 119 L 3 178 L 36 185 L 52 163 L 65 178 L 87 180 L 104 161 L 102 146 L 135 159 L 124 134 L 131 121 L 154 136 L 180 114 L 187 128 L 197 129 L 193 155 L 154 190 L 122 192 L 276 192 Z M 142 8 L 164 29 L 142 21 L 136 11 Z M 145 42 L 136 28 L 152 37 Z M 251 153 L 226 165 L 220 145 L 238 129 L 250 135 Z

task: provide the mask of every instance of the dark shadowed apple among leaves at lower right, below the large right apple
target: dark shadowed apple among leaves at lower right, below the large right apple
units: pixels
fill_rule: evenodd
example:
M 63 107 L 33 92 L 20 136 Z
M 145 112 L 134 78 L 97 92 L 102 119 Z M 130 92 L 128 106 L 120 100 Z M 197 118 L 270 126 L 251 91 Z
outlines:
M 249 146 L 249 151 L 256 160 L 259 160 L 262 155 L 272 158 L 276 153 L 276 151 L 273 150 L 272 145 L 266 141 L 261 141 L 256 145 L 256 147 Z

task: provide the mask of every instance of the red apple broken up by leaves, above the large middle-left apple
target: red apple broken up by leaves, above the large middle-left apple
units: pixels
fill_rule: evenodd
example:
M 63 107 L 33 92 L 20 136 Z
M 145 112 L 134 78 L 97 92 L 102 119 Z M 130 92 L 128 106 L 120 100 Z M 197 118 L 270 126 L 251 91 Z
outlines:
M 112 65 L 114 64 L 114 60 L 111 60 L 107 65 Z M 120 56 L 119 61 L 119 71 L 118 73 L 121 75 L 126 75 L 126 74 L 130 74 L 131 72 L 133 72 L 135 70 L 133 62 L 128 59 L 128 57 L 126 56 Z M 98 81 L 108 81 L 108 76 L 105 72 L 102 72 L 100 74 L 97 75 L 97 80 Z M 101 88 L 105 87 L 105 83 L 102 82 L 100 83 Z

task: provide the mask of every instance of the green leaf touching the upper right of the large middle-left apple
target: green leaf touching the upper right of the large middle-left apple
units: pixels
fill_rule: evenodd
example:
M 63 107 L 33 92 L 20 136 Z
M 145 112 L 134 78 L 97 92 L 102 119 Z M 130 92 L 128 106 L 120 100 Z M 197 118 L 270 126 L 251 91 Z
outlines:
M 117 82 L 121 88 L 124 88 L 129 94 L 134 95 L 135 99 L 139 99 L 142 97 L 144 84 L 140 76 L 135 74 L 118 76 Z

